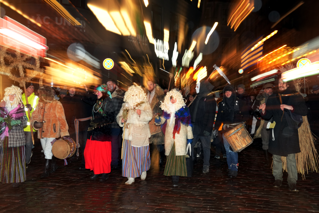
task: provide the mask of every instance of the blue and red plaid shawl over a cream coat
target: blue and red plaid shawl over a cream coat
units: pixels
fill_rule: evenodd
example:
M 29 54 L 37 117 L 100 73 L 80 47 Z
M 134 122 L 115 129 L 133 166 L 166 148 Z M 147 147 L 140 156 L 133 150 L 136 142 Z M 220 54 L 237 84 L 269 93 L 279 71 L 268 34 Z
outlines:
M 166 111 L 163 112 L 162 115 L 166 121 L 161 125 L 162 131 L 165 135 L 166 131 L 166 125 L 167 125 L 167 120 L 171 118 L 170 114 L 168 114 Z M 192 126 L 192 122 L 190 120 L 190 113 L 189 113 L 189 108 L 187 106 L 183 106 L 179 110 L 175 112 L 175 125 L 174 125 L 174 130 L 173 130 L 173 138 L 175 139 L 175 134 L 179 134 L 181 130 L 181 123 L 185 126 Z

